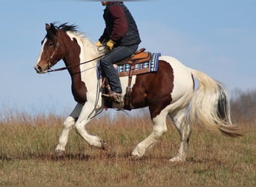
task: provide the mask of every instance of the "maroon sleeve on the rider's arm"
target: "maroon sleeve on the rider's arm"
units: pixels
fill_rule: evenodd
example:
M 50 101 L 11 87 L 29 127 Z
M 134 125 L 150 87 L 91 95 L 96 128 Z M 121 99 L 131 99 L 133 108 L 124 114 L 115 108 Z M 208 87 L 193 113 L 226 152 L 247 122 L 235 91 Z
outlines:
M 119 40 L 127 32 L 127 19 L 124 14 L 124 9 L 118 5 L 109 8 L 113 18 L 113 28 L 110 38 L 114 41 Z

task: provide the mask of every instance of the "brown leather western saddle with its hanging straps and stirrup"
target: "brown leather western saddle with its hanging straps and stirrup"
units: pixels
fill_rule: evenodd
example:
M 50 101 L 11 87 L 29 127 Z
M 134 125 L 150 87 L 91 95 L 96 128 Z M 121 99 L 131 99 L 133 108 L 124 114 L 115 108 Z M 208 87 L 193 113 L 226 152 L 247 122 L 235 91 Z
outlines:
M 136 70 L 135 72 L 135 65 L 141 64 L 143 62 L 150 61 L 151 59 L 151 53 L 150 52 L 144 52 L 145 48 L 138 49 L 137 52 L 135 52 L 132 56 L 125 58 L 124 60 L 118 61 L 114 64 L 114 66 L 129 64 L 129 71 L 127 73 L 118 73 L 118 76 L 128 76 L 128 85 L 127 90 L 124 95 L 124 104 L 123 105 L 115 105 L 115 103 L 112 103 L 111 100 L 113 99 L 113 92 L 111 90 L 111 87 L 109 85 L 108 80 L 106 79 L 106 76 L 103 76 L 103 93 L 109 94 L 109 100 L 105 100 L 106 107 L 107 108 L 124 108 L 127 110 L 131 110 L 131 84 L 132 84 L 132 75 L 137 75 L 141 73 L 145 73 L 147 71 L 141 69 Z

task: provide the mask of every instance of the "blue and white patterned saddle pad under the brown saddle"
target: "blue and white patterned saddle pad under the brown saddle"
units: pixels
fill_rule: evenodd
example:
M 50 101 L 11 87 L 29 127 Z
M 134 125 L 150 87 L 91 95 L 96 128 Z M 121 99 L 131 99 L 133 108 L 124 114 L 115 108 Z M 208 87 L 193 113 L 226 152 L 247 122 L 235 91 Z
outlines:
M 150 61 L 142 62 L 140 64 L 135 64 L 135 68 L 133 70 L 132 75 L 156 72 L 158 69 L 159 56 L 161 56 L 161 53 L 155 52 L 151 54 Z M 118 67 L 116 67 L 116 70 L 118 70 L 119 76 L 129 76 L 130 68 L 131 68 L 130 64 L 122 64 L 122 65 L 118 65 Z

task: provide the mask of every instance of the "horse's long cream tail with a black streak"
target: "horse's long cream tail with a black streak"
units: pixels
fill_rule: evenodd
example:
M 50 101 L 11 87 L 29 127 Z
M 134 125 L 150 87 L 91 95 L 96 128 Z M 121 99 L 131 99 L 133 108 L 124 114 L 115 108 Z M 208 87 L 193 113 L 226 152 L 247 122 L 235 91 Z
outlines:
M 201 71 L 191 69 L 191 72 L 198 80 L 198 89 L 190 102 L 189 123 L 198 123 L 231 137 L 242 135 L 238 126 L 231 122 L 230 103 L 224 86 Z

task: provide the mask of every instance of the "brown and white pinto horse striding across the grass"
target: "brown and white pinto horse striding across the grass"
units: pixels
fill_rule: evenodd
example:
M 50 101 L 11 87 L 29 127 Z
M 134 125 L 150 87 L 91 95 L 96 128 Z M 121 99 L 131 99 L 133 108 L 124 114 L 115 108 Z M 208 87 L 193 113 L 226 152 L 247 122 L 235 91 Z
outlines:
M 65 152 L 72 126 L 91 146 L 106 148 L 106 142 L 90 135 L 85 126 L 104 108 L 104 99 L 99 95 L 103 88 L 97 63 L 106 51 L 77 31 L 76 25 L 59 26 L 46 24 L 46 37 L 34 69 L 47 73 L 58 61 L 64 61 L 72 80 L 72 93 L 76 107 L 64 120 L 63 129 L 55 148 L 56 154 Z M 195 80 L 198 88 L 195 90 Z M 128 77 L 121 77 L 122 88 L 126 88 Z M 124 93 L 123 93 L 124 96 Z M 159 58 L 158 70 L 133 76 L 131 92 L 132 108 L 148 107 L 153 122 L 153 132 L 132 151 L 132 156 L 141 157 L 167 132 L 166 117 L 170 117 L 180 134 L 180 148 L 171 162 L 185 162 L 189 147 L 192 124 L 200 124 L 216 132 L 236 137 L 239 129 L 232 125 L 230 106 L 225 88 L 205 73 L 181 64 L 175 58 Z

